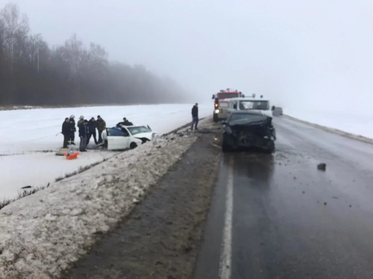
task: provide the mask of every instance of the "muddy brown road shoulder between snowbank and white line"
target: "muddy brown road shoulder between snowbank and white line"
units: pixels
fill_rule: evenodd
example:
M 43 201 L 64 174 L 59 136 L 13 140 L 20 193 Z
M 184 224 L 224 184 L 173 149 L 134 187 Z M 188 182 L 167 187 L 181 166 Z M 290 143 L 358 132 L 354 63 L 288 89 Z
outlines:
M 63 278 L 191 278 L 220 150 L 201 131 L 182 159 L 129 217 Z

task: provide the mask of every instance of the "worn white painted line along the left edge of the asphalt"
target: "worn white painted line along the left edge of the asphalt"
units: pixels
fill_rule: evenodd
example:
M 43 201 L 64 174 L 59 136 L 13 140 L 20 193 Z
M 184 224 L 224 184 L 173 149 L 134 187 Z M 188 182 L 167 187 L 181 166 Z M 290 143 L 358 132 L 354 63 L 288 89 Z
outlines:
M 232 261 L 232 216 L 233 216 L 233 156 L 229 158 L 227 188 L 225 194 L 225 220 L 222 250 L 220 252 L 219 278 L 231 278 Z

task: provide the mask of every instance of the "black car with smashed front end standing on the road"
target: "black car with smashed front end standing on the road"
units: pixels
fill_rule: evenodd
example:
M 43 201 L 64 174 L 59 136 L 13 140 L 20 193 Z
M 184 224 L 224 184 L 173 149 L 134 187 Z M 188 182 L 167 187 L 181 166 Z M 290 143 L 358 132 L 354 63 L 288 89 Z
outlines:
M 262 112 L 233 112 L 224 122 L 223 152 L 240 148 L 260 148 L 268 153 L 275 150 L 276 131 L 272 117 Z

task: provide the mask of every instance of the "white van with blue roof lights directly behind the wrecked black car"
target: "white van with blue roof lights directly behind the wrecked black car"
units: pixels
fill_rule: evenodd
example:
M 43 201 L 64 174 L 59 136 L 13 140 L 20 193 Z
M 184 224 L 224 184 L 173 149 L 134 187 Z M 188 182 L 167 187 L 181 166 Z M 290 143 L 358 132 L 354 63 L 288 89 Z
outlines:
M 231 98 L 228 100 L 227 115 L 228 117 L 234 112 L 260 111 L 264 115 L 272 117 L 272 110 L 269 106 L 269 100 L 262 98 Z

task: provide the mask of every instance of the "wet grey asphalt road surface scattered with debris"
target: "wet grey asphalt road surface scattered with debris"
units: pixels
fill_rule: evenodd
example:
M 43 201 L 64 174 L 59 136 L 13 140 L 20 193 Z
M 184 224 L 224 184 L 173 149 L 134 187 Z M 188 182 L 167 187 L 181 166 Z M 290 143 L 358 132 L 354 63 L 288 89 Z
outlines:
M 194 277 L 373 278 L 373 145 L 274 125 L 275 154 L 224 155 Z

